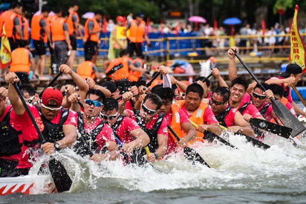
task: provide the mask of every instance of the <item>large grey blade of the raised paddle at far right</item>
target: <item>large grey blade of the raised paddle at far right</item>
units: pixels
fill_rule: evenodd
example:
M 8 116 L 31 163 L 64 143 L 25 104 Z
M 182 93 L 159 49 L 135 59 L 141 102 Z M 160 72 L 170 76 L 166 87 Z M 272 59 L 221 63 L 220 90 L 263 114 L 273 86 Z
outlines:
M 292 128 L 291 136 L 293 138 L 306 129 L 283 103 L 275 100 L 272 100 L 272 102 L 272 109 L 279 120 L 282 121 L 284 126 Z

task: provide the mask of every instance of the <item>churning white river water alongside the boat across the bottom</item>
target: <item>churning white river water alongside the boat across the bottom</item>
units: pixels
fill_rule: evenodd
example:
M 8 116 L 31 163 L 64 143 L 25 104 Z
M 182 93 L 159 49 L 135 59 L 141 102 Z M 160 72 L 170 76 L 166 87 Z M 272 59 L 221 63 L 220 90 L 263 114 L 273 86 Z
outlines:
M 78 156 L 65 157 L 63 164 L 74 172 L 72 192 L 12 194 L 0 203 L 306 203 L 304 146 L 268 135 L 264 142 L 271 148 L 263 150 L 243 137 L 224 137 L 238 149 L 216 141 L 196 148 L 211 169 L 191 165 L 182 152 L 145 168 L 120 161 L 78 166 Z

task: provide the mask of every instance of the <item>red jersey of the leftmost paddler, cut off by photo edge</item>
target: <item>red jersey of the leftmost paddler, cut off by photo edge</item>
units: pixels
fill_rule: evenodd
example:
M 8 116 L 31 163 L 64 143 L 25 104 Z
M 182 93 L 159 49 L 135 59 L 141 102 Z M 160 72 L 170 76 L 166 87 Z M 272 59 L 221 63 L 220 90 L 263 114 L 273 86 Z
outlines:
M 8 105 L 6 107 L 6 109 L 4 110 L 3 114 L 0 116 L 0 122 L 3 121 L 3 118 L 5 117 L 5 115 L 8 113 L 8 111 L 12 108 L 12 105 Z M 10 112 L 10 118 L 12 118 L 12 112 L 13 109 Z M 22 131 L 21 129 L 21 125 L 18 122 L 14 122 L 12 119 L 10 119 L 10 125 L 16 130 L 16 131 Z M 19 134 L 19 143 L 22 144 L 22 134 Z M 9 156 L 0 156 L 0 158 L 3 158 L 4 160 L 11 160 L 11 161 L 15 161 L 18 162 L 21 158 L 22 152 L 18 153 L 18 154 L 14 154 L 14 155 L 9 155 Z

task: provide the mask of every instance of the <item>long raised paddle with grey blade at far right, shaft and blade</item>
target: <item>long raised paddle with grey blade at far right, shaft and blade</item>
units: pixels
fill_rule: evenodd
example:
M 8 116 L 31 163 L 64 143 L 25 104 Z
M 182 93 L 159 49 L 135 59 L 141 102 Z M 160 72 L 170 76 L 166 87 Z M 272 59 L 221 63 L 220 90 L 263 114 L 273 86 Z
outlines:
M 242 61 L 240 56 L 234 51 L 236 57 L 239 59 L 239 61 L 242 63 L 242 65 L 245 67 L 247 72 L 252 76 L 252 78 L 261 86 L 261 88 L 266 91 L 266 88 L 259 82 L 257 77 L 250 71 L 249 67 Z M 304 127 L 297 118 L 294 117 L 294 115 L 290 112 L 290 110 L 279 101 L 276 101 L 274 98 L 270 98 L 272 101 L 272 109 L 275 112 L 276 116 L 279 118 L 279 120 L 282 121 L 284 126 L 291 127 L 292 128 L 292 137 L 296 137 L 298 134 L 303 132 L 306 127 Z

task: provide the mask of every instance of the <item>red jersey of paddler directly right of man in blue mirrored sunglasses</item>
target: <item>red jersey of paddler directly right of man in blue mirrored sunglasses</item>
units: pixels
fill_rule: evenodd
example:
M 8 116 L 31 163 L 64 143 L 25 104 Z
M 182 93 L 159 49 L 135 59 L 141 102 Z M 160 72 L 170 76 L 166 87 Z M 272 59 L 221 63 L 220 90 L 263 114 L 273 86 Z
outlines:
M 132 118 L 123 117 L 120 125 L 116 128 L 116 134 L 122 144 L 130 143 L 134 140 L 131 131 L 139 129 L 139 125 Z

